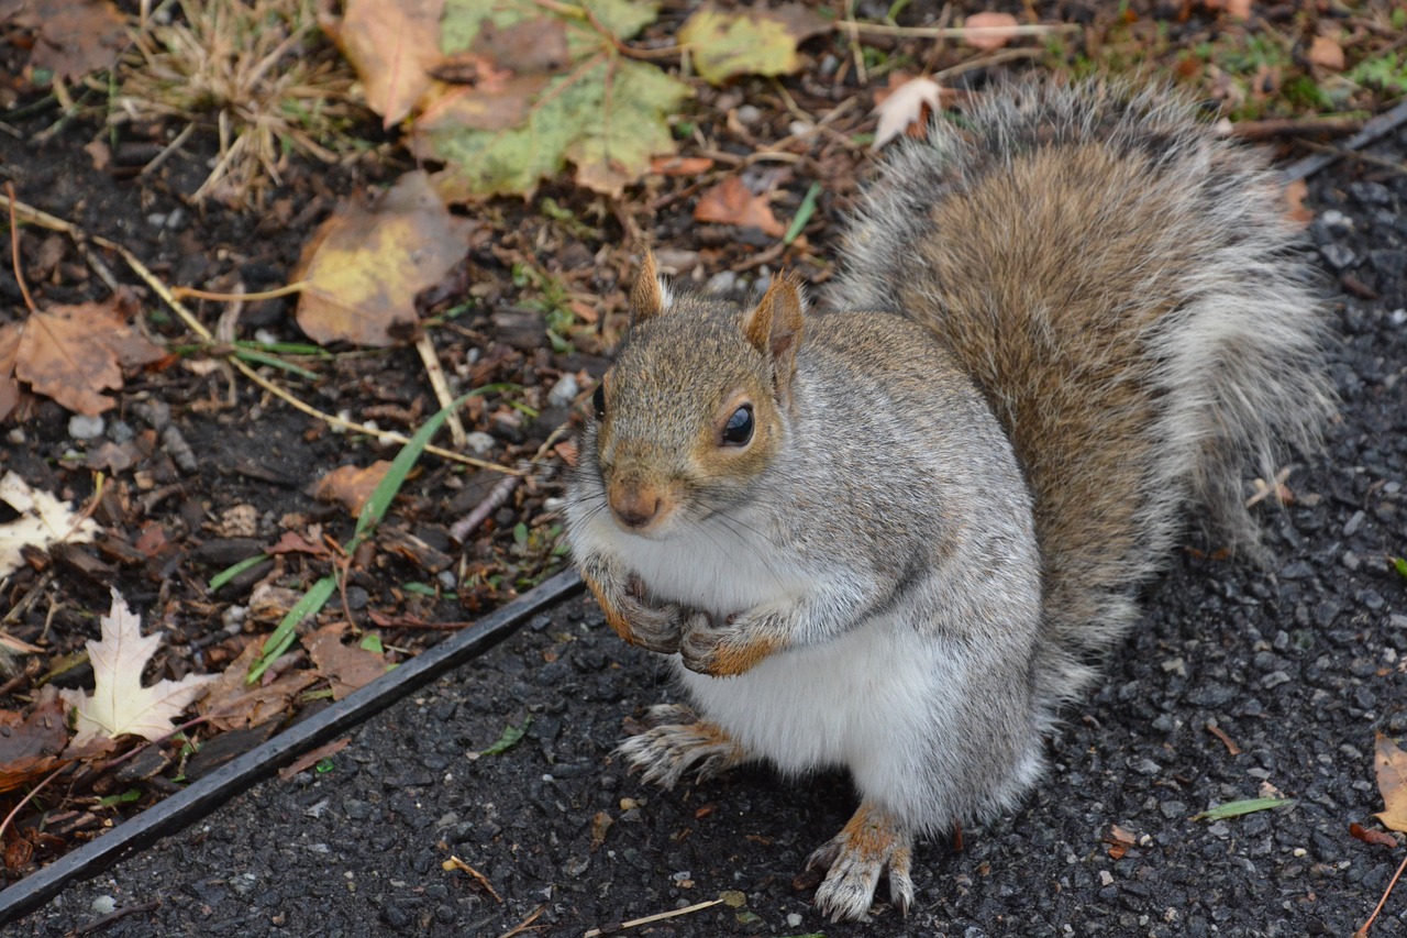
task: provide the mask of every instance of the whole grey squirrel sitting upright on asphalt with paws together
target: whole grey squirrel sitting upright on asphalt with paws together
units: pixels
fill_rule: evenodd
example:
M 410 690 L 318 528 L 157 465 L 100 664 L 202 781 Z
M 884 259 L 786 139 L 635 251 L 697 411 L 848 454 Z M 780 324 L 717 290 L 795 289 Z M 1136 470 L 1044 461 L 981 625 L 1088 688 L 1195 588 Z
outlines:
M 860 807 L 808 862 L 834 920 L 885 876 L 908 914 L 916 839 L 1019 801 L 1192 510 L 1256 552 L 1242 469 L 1334 410 L 1262 154 L 1113 82 L 964 117 L 868 187 L 829 311 L 789 277 L 675 292 L 646 256 L 568 483 L 606 621 L 692 701 L 625 762 L 848 769 Z

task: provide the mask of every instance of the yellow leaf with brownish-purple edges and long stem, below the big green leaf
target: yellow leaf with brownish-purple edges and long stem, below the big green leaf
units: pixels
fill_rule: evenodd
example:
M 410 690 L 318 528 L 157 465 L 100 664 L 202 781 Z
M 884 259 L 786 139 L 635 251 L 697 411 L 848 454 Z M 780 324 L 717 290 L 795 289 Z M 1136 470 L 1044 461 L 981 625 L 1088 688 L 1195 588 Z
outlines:
M 401 176 L 370 208 L 346 207 L 304 246 L 298 325 L 317 342 L 386 346 L 414 334 L 415 294 L 469 254 L 474 223 L 456 218 L 424 172 Z

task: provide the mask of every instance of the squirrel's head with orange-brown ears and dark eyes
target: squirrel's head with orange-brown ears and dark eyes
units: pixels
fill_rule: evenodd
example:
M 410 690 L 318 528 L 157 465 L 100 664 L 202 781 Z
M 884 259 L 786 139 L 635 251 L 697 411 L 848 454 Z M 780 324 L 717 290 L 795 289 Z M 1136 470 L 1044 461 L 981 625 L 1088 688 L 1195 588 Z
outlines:
M 646 256 L 630 328 L 594 396 L 595 468 L 615 523 L 673 524 L 747 497 L 787 435 L 802 299 L 784 277 L 754 306 L 674 296 Z

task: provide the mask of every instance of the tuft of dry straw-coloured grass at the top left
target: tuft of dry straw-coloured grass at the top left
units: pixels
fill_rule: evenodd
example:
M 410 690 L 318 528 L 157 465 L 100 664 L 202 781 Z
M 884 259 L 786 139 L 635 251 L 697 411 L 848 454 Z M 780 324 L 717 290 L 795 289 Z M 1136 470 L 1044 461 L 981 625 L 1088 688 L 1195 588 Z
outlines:
M 259 207 L 290 154 L 335 162 L 348 149 L 355 76 L 322 41 L 314 0 L 179 0 L 144 20 L 108 120 L 212 121 L 219 156 L 196 201 Z

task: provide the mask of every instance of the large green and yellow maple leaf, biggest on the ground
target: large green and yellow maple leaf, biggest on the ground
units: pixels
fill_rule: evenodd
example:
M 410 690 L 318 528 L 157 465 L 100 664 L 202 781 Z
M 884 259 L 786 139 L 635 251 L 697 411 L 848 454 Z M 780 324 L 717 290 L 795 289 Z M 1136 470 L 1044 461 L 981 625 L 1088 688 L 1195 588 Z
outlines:
M 592 20 L 578 7 L 536 0 L 446 0 L 440 48 L 446 56 L 483 56 L 485 27 L 511 34 L 522 23 L 543 35 L 561 30 L 568 61 L 557 72 L 545 58 L 507 46 L 494 65 L 507 76 L 476 86 L 442 86 L 426 96 L 414 125 L 419 159 L 443 162 L 435 186 L 449 201 L 530 194 L 543 179 L 575 168 L 577 185 L 619 196 L 650 170 L 654 156 L 675 152 L 667 118 L 689 87 L 656 65 L 636 62 L 620 45 L 656 18 L 651 3 L 597 0 Z

